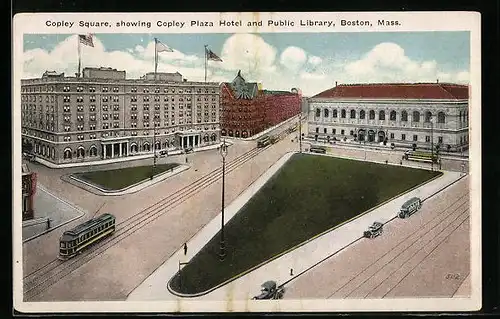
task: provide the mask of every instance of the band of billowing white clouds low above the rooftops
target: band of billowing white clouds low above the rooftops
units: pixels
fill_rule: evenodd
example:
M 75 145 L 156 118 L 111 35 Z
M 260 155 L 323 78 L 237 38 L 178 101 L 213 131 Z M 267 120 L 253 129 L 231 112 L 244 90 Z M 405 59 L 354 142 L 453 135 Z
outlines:
M 40 77 L 46 70 L 72 76 L 77 69 L 76 36 L 68 37 L 51 51 L 28 50 L 24 53 L 24 77 Z M 147 42 L 149 41 L 149 42 Z M 165 43 L 169 45 L 168 43 Z M 95 47 L 82 46 L 82 67 L 113 67 L 126 70 L 128 78 L 154 71 L 154 42 L 149 38 L 123 51 L 107 51 L 98 37 Z M 170 46 L 170 45 L 169 45 Z M 191 81 L 204 80 L 204 58 L 176 50 L 159 55 L 159 72 L 179 72 Z M 315 95 L 341 83 L 370 82 L 458 82 L 467 83 L 467 70 L 445 70 L 434 60 L 416 61 L 394 43 L 380 43 L 353 60 L 333 56 L 315 56 L 299 46 L 278 50 L 258 35 L 235 34 L 222 46 L 223 62 L 209 61 L 207 79 L 231 81 L 241 70 L 247 81 L 261 82 L 266 89 L 300 88 L 304 95 Z

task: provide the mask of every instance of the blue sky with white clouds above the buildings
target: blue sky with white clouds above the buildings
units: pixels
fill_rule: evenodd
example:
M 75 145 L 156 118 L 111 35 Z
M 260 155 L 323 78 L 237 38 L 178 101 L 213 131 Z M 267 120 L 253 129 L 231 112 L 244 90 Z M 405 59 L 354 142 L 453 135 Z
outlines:
M 230 81 L 241 69 L 249 81 L 269 89 L 299 87 L 319 93 L 332 83 L 466 83 L 469 32 L 267 33 L 267 34 L 96 34 L 82 49 L 84 66 L 112 66 L 128 77 L 153 70 L 153 39 L 175 50 L 162 53 L 159 71 L 179 71 L 203 80 L 203 45 L 223 62 L 209 62 L 209 81 Z M 45 70 L 76 72 L 76 36 L 24 36 L 25 77 Z M 101 65 L 107 64 L 107 65 Z

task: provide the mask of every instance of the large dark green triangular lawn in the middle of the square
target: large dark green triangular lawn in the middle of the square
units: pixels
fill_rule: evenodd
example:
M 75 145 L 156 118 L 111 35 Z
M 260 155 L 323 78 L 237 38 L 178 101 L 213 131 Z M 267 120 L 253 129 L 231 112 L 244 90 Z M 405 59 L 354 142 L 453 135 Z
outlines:
M 219 260 L 219 232 L 182 269 L 182 286 L 177 274 L 171 287 L 206 291 L 440 174 L 295 154 L 226 224 L 225 260 Z

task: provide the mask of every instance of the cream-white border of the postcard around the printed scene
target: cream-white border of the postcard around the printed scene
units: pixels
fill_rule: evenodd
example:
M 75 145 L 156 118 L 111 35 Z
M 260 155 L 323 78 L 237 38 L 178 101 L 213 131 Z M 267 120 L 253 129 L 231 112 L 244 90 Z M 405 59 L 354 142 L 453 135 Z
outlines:
M 263 27 L 159 27 L 155 21 L 185 21 L 192 13 L 23 13 L 14 17 L 13 25 L 13 287 L 14 308 L 21 312 L 317 312 L 317 311 L 471 311 L 481 308 L 481 34 L 477 12 L 339 12 L 339 13 L 196 13 L 204 21 L 269 19 L 295 21 L 294 26 Z M 79 27 L 78 21 L 151 21 L 150 28 Z M 298 26 L 301 19 L 401 21 L 399 27 L 309 27 Z M 51 27 L 46 21 L 74 22 L 74 27 Z M 23 302 L 23 254 L 21 230 L 21 77 L 23 69 L 23 35 L 57 33 L 267 33 L 267 32 L 422 32 L 470 31 L 470 239 L 471 298 L 414 298 L 390 300 L 279 300 L 275 302 Z

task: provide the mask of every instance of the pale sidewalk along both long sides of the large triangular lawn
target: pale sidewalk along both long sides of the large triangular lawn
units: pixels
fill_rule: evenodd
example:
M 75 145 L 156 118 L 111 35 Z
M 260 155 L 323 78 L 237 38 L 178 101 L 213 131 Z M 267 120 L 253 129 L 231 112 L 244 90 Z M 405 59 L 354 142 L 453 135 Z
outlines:
M 255 181 L 242 195 L 226 208 L 228 216 L 225 223 L 234 216 L 237 211 L 265 182 L 276 172 L 292 155 L 288 153 L 275 163 L 265 174 Z M 267 280 L 275 280 L 278 284 L 289 281 L 290 270 L 297 275 L 307 270 L 311 266 L 334 254 L 353 241 L 358 240 L 363 231 L 373 223 L 373 221 L 388 222 L 396 216 L 401 205 L 411 197 L 417 196 L 426 199 L 443 187 L 451 184 L 460 178 L 459 173 L 444 172 L 444 175 L 428 184 L 403 194 L 394 200 L 385 203 L 365 215 L 358 217 L 338 228 L 306 243 L 303 246 L 283 255 L 268 264 L 240 277 L 225 286 L 222 286 L 204 296 L 189 298 L 189 300 L 241 300 L 248 301 L 258 294 L 260 285 Z M 425 202 L 424 202 L 425 205 Z M 188 254 L 184 256 L 182 249 L 173 254 L 162 266 L 141 283 L 130 293 L 128 301 L 150 301 L 150 300 L 171 300 L 183 299 L 171 294 L 167 290 L 168 281 L 178 272 L 179 262 L 188 262 L 202 247 L 219 231 L 221 216 L 214 218 L 188 243 Z M 185 299 L 185 298 L 184 298 Z M 244 308 L 237 309 L 235 303 L 234 311 L 245 311 Z M 248 307 L 247 302 L 242 302 L 241 306 Z

